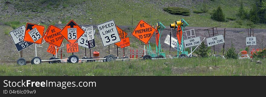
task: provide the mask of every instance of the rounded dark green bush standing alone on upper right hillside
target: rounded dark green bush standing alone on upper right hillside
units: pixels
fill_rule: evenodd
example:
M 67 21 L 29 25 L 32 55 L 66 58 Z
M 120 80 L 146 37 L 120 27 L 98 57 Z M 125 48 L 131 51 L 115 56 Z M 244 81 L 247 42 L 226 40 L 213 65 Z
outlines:
M 211 18 L 216 21 L 225 21 L 225 16 L 222 12 L 221 6 L 219 6 L 216 10 L 213 10 Z

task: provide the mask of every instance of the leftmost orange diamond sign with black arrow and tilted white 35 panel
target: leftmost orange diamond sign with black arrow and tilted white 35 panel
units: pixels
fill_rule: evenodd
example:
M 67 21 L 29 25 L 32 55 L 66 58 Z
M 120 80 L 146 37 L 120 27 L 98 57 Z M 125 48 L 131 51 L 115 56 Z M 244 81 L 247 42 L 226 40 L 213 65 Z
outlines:
M 42 44 L 44 35 L 44 26 L 38 24 L 26 24 L 24 41 Z

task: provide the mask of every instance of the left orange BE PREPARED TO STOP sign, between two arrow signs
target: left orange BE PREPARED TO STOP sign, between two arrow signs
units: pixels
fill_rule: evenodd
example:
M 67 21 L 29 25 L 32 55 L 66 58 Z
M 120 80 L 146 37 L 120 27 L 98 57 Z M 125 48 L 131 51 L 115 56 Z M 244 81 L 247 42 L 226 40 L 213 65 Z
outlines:
M 60 34 L 60 31 L 60 28 L 50 25 L 44 34 L 44 40 L 49 44 L 60 47 L 64 39 L 64 37 Z

